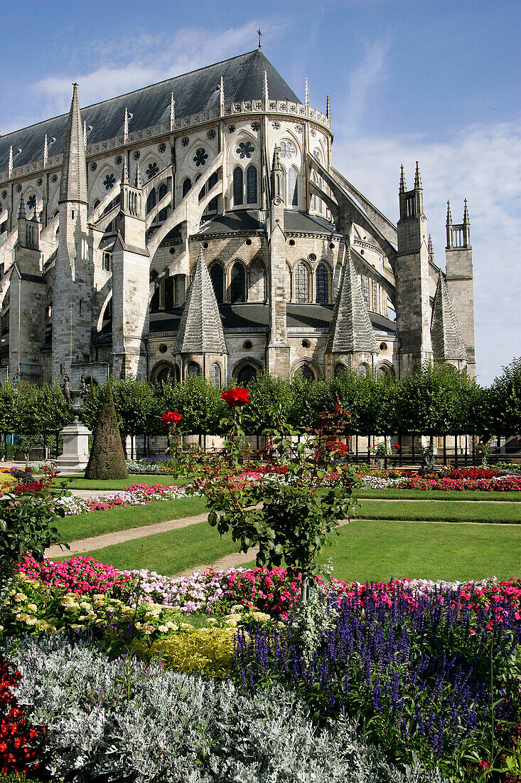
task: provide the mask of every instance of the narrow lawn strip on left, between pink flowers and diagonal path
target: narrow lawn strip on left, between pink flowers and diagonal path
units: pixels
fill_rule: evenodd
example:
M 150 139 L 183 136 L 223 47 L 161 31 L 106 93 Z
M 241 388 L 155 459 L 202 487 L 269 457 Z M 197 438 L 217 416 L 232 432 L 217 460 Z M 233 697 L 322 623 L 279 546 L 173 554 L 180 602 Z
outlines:
M 58 529 L 63 541 L 78 541 L 103 533 L 155 525 L 168 519 L 182 519 L 203 514 L 207 502 L 203 497 L 180 497 L 177 500 L 156 500 L 145 506 L 110 508 L 88 514 L 71 514 L 60 518 Z

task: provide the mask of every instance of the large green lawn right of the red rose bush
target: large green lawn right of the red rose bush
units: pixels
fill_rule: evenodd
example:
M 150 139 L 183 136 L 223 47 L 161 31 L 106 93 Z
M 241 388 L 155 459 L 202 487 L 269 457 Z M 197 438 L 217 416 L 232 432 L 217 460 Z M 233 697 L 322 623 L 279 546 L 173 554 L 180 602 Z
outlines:
M 347 582 L 521 576 L 521 526 L 354 520 L 319 558 Z

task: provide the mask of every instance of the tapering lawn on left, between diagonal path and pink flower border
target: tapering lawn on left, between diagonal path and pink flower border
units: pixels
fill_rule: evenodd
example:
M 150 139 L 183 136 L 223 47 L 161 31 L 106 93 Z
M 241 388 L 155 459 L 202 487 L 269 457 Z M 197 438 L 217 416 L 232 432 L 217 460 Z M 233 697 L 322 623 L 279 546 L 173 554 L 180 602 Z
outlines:
M 187 528 L 154 533 L 146 538 L 125 541 L 112 547 L 82 552 L 82 557 L 95 557 L 124 571 L 148 568 L 164 576 L 173 576 L 192 570 L 198 565 L 210 565 L 226 554 L 239 551 L 232 536 L 219 536 L 217 529 L 207 522 L 198 522 Z M 56 557 L 64 560 L 66 557 Z

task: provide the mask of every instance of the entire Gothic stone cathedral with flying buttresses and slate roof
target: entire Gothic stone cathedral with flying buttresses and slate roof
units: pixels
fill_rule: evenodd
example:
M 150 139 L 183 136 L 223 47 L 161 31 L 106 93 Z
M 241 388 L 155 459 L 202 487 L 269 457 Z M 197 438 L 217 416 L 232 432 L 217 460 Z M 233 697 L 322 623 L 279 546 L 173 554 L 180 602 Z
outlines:
M 419 167 L 395 226 L 305 94 L 259 49 L 85 110 L 74 85 L 68 115 L 0 137 L 0 381 L 474 375 L 466 204 L 444 272 Z

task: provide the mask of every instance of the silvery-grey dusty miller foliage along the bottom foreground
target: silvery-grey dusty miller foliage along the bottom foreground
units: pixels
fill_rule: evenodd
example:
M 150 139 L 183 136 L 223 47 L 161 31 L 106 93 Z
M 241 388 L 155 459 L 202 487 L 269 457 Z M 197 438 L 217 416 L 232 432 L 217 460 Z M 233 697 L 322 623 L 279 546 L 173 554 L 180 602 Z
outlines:
M 388 763 L 343 714 L 317 728 L 280 686 L 245 696 L 63 637 L 21 640 L 13 654 L 20 701 L 47 727 L 46 771 L 71 783 L 441 783 Z

